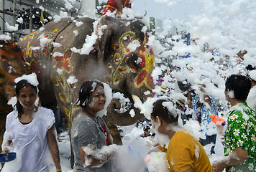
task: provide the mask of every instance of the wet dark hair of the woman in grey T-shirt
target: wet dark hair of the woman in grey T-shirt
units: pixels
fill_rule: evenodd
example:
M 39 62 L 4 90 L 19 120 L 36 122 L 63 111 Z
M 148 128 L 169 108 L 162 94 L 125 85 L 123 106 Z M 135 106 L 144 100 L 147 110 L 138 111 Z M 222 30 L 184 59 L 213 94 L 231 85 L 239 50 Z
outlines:
M 96 84 L 95 87 L 93 87 L 93 83 Z M 96 89 L 98 85 L 104 88 L 104 85 L 97 80 L 88 80 L 86 82 L 83 82 L 79 90 L 79 97 L 76 105 L 78 107 L 86 109 L 86 107 L 90 104 L 92 100 L 91 93 Z

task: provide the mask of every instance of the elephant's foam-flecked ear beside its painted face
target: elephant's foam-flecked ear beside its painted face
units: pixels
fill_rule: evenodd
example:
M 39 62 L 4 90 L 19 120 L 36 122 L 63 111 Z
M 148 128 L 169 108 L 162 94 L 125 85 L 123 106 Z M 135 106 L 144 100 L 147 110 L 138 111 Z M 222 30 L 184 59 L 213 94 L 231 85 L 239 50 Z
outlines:
M 111 16 L 103 16 L 96 27 L 95 49 L 98 51 L 97 61 L 102 64 L 111 51 L 111 40 L 116 38 L 117 32 L 122 27 L 122 22 L 119 19 Z

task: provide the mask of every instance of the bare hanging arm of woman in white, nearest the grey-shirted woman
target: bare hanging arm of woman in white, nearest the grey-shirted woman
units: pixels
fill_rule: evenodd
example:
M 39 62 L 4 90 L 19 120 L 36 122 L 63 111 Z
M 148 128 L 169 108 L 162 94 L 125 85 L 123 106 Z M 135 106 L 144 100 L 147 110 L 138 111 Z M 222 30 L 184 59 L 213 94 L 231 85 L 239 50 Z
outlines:
M 47 132 L 48 145 L 50 148 L 50 153 L 52 154 L 53 162 L 55 163 L 56 171 L 61 171 L 60 167 L 60 153 L 58 148 L 58 143 L 55 135 L 55 124 Z

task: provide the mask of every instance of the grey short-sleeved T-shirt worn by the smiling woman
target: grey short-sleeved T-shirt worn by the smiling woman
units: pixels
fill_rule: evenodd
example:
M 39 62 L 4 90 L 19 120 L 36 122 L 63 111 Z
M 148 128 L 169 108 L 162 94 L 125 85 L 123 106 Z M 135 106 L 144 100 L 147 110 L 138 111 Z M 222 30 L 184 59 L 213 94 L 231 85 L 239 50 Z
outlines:
M 101 149 L 106 145 L 106 134 L 102 127 L 106 128 L 109 133 L 109 128 L 107 128 L 106 123 L 99 116 L 97 117 L 99 123 L 96 123 L 95 120 L 90 115 L 79 114 L 76 117 L 75 122 L 72 125 L 71 129 L 71 143 L 73 146 L 73 152 L 75 156 L 74 171 L 89 171 L 89 172 L 110 172 L 112 171 L 112 162 L 111 160 L 107 161 L 101 167 L 94 168 L 84 168 L 81 163 L 80 151 L 79 148 L 96 143 L 97 149 Z

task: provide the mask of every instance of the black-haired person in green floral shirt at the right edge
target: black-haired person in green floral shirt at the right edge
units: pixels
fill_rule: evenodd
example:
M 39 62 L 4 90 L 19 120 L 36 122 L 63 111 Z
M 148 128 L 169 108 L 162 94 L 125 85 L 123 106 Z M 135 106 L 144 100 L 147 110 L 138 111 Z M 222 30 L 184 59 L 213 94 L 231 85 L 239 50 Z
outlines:
M 247 105 L 250 92 L 249 77 L 231 75 L 225 84 L 225 95 L 232 105 L 227 113 L 227 129 L 224 135 L 225 158 L 215 161 L 214 171 L 256 171 L 256 115 Z

